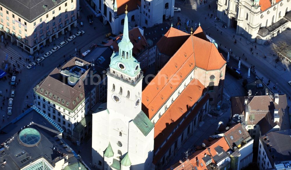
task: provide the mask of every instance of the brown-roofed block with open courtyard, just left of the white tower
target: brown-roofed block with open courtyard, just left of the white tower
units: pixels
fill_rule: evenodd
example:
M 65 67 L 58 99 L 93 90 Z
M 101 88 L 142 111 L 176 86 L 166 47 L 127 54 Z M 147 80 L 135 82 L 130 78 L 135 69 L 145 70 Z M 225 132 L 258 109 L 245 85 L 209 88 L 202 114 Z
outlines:
M 52 118 L 74 142 L 81 142 L 90 132 L 90 109 L 105 93 L 106 77 L 95 65 L 77 57 L 55 68 L 36 87 L 34 105 Z

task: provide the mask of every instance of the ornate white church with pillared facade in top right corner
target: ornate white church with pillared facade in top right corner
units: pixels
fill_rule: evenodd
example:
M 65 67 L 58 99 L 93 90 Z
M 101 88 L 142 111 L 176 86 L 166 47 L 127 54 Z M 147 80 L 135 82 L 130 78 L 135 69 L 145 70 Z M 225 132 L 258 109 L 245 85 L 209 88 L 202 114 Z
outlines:
M 218 0 L 217 17 L 251 42 L 266 40 L 291 28 L 290 0 Z

